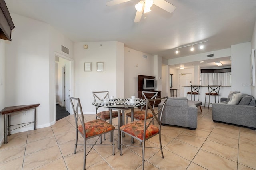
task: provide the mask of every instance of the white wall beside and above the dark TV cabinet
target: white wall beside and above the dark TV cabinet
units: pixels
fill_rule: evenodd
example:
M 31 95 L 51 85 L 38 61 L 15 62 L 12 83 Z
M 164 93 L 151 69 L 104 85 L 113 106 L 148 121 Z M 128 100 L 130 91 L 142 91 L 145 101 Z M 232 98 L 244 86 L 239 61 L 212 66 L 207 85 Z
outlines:
M 147 55 L 148 58 L 144 58 L 143 55 Z M 138 75 L 156 76 L 153 62 L 152 55 L 124 47 L 124 97 L 138 97 Z

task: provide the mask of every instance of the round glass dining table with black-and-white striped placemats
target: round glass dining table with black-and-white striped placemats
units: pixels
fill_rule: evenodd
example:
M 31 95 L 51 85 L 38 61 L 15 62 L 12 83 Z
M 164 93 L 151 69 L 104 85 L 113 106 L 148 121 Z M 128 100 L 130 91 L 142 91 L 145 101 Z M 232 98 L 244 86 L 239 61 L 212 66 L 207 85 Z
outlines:
M 103 100 L 96 100 L 92 102 L 92 105 L 96 107 L 106 107 L 110 111 L 110 119 L 109 122 L 112 124 L 112 110 L 118 111 L 118 149 L 121 148 L 121 131 L 120 127 L 124 125 L 124 111 L 131 109 L 131 117 L 132 121 L 134 120 L 133 115 L 134 115 L 134 108 L 135 107 L 141 107 L 146 105 L 146 101 L 143 99 L 136 98 L 136 101 L 134 103 L 130 103 L 130 98 L 128 99 L 121 99 L 121 98 L 115 98 L 115 99 L 109 99 L 108 102 L 104 103 Z M 122 111 L 122 115 L 121 115 Z M 123 119 L 121 120 L 121 117 Z M 110 134 L 110 141 L 112 140 L 112 133 Z M 134 143 L 134 138 L 132 138 L 132 143 Z

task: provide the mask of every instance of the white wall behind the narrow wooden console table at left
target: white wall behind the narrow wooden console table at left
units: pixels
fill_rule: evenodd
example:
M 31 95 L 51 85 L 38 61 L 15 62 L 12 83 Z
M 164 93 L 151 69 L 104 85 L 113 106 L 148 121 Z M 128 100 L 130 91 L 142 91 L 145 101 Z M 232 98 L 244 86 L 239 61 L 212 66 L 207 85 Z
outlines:
M 54 51 L 62 53 L 63 42 L 72 49 L 69 56 L 73 57 L 73 42 L 44 22 L 14 13 L 11 16 L 16 28 L 12 31 L 12 41 L 6 42 L 4 107 L 40 103 L 37 128 L 50 126 L 55 123 Z M 30 110 L 26 115 L 13 115 L 12 125 L 32 120 L 33 110 Z M 33 124 L 11 133 L 32 129 Z

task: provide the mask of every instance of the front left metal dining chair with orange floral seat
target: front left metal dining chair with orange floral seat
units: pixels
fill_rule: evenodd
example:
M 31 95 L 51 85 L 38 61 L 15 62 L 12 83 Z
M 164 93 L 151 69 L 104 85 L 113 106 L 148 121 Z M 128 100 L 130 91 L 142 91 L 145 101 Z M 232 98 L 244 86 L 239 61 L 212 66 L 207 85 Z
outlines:
M 115 143 L 114 143 L 115 127 L 102 119 L 96 119 L 96 120 L 89 121 L 89 122 L 85 123 L 80 99 L 75 98 L 75 97 L 70 97 L 70 96 L 68 96 L 68 97 L 69 97 L 70 103 L 72 105 L 72 109 L 73 109 L 74 116 L 75 116 L 75 125 L 76 125 L 76 142 L 75 142 L 74 154 L 76 154 L 77 145 L 84 145 L 84 167 L 83 167 L 83 169 L 85 170 L 86 157 L 90 153 L 92 148 L 95 145 L 97 145 L 96 142 L 99 140 L 99 138 L 102 134 L 106 134 L 109 132 L 112 133 L 112 137 L 113 137 L 112 144 L 105 144 L 105 145 L 112 145 L 112 147 L 113 147 L 112 154 L 115 155 L 115 147 L 114 147 L 115 146 Z M 84 138 L 83 144 L 78 144 L 78 133 Z M 86 154 L 86 140 L 88 140 L 90 138 L 94 138 L 94 137 L 98 137 L 98 139 L 94 142 L 94 144 L 89 144 L 92 147 L 90 148 L 89 152 Z

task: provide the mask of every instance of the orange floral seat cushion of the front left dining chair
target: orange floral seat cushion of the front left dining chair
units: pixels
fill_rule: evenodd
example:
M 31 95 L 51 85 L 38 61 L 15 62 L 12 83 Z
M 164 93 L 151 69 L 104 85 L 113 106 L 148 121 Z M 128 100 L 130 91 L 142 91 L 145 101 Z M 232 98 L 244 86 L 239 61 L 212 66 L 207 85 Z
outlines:
M 107 123 L 106 121 L 103 121 L 102 119 L 89 121 L 89 122 L 84 123 L 84 125 L 85 125 L 85 137 L 86 138 L 91 137 L 91 136 L 96 136 L 96 135 L 99 135 L 102 133 L 106 133 L 106 132 L 109 132 L 109 131 L 115 129 L 115 127 L 113 125 L 111 125 L 110 123 Z M 84 134 L 82 125 L 78 126 L 78 130 L 79 130 L 79 132 Z

